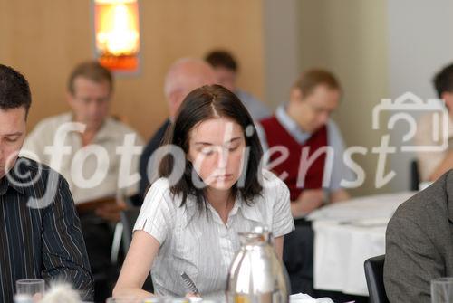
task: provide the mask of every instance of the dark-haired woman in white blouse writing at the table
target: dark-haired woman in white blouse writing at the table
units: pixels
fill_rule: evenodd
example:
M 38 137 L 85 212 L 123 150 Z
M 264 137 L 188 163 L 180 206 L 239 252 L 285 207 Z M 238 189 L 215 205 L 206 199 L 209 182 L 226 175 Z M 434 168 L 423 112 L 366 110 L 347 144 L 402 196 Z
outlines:
M 141 287 L 151 270 L 159 296 L 186 295 L 186 272 L 203 298 L 218 299 L 240 247 L 238 232 L 267 225 L 282 258 L 284 234 L 294 229 L 288 189 L 261 170 L 253 120 L 222 86 L 188 94 L 166 144 L 180 152 L 164 156 L 146 194 L 114 296 L 149 297 Z

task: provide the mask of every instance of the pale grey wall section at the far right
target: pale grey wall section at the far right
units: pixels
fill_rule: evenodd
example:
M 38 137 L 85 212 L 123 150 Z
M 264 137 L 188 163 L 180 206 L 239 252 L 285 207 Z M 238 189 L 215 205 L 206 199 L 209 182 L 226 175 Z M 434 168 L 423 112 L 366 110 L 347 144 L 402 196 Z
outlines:
M 436 71 L 453 62 L 453 1 L 388 0 L 389 88 L 394 99 L 411 91 L 423 99 L 436 98 L 431 80 Z M 392 142 L 400 146 L 405 132 L 401 126 L 391 132 Z M 409 163 L 413 154 L 391 157 L 397 173 L 394 191 L 406 190 Z

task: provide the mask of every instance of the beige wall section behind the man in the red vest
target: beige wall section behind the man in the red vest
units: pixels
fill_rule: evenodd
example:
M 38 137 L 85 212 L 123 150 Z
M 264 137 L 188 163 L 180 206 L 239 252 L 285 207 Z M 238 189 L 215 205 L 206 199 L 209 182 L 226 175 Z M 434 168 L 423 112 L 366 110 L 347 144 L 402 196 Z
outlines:
M 386 3 L 301 0 L 298 4 L 301 67 L 322 67 L 335 73 L 343 96 L 333 119 L 348 147 L 367 150 L 366 155 L 353 156 L 364 170 L 365 182 L 349 192 L 389 192 L 390 185 L 375 186 L 378 157 L 371 153 L 381 140 L 381 132 L 371 128 L 372 109 L 388 95 Z

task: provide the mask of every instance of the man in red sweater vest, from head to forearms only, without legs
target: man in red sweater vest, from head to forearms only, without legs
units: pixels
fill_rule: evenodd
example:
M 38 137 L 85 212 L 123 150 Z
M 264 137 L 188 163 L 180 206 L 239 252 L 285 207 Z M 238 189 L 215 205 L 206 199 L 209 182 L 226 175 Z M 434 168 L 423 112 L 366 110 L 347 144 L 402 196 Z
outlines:
M 280 106 L 275 116 L 260 121 L 265 150 L 284 147 L 289 152 L 272 170 L 277 175 L 287 175 L 284 182 L 290 189 L 291 209 L 296 217 L 311 213 L 325 202 L 349 198 L 340 185 L 342 178 L 350 174 L 342 160 L 342 134 L 330 118 L 340 103 L 341 94 L 338 80 L 329 71 L 306 71 L 294 83 L 289 102 Z M 316 153 L 323 147 L 332 147 L 332 164 L 327 151 Z M 275 164 L 277 158 L 283 159 L 277 148 L 269 152 L 270 161 Z M 301 170 L 301 166 L 306 169 Z M 330 175 L 327 182 L 323 182 L 325 174 Z

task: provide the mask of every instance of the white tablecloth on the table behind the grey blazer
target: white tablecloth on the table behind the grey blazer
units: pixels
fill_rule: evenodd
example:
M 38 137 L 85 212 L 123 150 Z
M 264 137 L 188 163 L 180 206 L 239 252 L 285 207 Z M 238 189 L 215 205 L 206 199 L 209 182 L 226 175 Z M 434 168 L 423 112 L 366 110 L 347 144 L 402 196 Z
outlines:
M 368 296 L 363 263 L 385 253 L 387 223 L 413 194 L 378 194 L 311 213 L 314 288 Z

